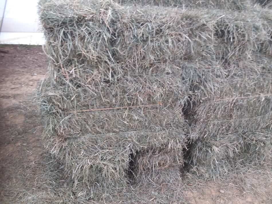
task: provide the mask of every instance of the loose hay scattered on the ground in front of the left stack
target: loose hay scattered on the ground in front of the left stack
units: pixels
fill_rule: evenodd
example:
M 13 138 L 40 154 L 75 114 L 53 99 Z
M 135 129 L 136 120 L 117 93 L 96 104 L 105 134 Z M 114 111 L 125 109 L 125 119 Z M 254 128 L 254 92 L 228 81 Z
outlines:
M 63 165 L 53 160 L 51 155 L 41 158 L 32 166 L 30 178 L 35 178 L 33 188 L 25 191 L 18 189 L 16 201 L 21 203 L 186 203 L 184 189 L 186 186 L 172 181 L 170 184 L 138 183 L 129 184 L 126 188 L 109 188 L 102 184 L 86 186 L 78 183 L 74 187 L 70 175 L 64 172 Z M 38 173 L 37 173 L 38 172 Z M 175 190 L 174 190 L 175 189 Z M 13 202 L 15 199 L 13 198 Z M 15 202 L 17 203 L 17 202 Z

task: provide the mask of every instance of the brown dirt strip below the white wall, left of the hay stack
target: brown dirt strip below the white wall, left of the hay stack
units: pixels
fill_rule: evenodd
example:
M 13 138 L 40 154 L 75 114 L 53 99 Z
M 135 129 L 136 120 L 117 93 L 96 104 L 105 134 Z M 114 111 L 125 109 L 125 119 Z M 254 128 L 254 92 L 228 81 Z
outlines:
M 10 200 L 18 188 L 24 190 L 30 183 L 25 181 L 27 170 L 43 149 L 33 97 L 47 70 L 41 46 L 4 48 L 9 53 L 0 53 L 0 203 L 7 203 L 7 197 Z

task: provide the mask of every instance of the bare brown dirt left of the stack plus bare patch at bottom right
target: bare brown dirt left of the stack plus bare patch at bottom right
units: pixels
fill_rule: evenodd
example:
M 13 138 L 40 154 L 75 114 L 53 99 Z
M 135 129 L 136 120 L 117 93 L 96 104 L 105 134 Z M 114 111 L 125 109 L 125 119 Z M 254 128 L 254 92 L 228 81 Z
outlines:
M 9 53 L 0 53 L 0 203 L 28 203 L 18 195 L 39 191 L 32 167 L 45 150 L 34 99 L 47 72 L 47 58 L 40 46 L 1 47 Z M 184 196 L 191 204 L 272 203 L 272 178 L 269 173 L 264 177 L 265 173 L 249 172 L 228 182 L 199 181 Z

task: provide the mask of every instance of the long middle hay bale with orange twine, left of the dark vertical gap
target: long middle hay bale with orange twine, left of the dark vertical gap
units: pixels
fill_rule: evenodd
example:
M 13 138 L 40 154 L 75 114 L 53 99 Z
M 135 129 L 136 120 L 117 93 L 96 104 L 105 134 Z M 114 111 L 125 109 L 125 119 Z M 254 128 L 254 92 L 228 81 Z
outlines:
M 79 88 L 44 83 L 41 90 L 47 132 L 53 136 L 183 128 L 188 87 L 177 72 L 139 75 Z M 139 86 L 139 84 L 141 84 Z M 186 90 L 187 89 L 187 90 Z M 89 110 L 89 111 L 86 111 Z

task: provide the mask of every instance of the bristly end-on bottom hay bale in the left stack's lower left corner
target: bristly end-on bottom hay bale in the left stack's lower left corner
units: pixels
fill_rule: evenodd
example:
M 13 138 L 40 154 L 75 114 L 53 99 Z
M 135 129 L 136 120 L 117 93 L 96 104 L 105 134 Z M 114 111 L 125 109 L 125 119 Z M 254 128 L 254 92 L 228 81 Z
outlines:
M 97 142 L 92 139 L 86 136 L 70 140 L 58 154 L 65 163 L 66 172 L 71 173 L 74 185 L 80 181 L 87 185 L 99 181 L 109 186 L 116 181 L 123 182 L 129 164 L 129 144 L 116 138 L 108 142 L 107 138 Z

